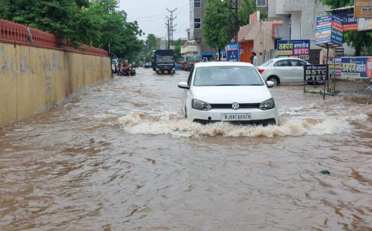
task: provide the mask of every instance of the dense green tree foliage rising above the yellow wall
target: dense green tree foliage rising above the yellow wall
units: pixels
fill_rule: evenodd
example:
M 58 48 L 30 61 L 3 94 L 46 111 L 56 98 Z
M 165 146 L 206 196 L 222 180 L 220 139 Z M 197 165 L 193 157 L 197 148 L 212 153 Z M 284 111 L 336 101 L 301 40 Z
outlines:
M 0 0 L 0 18 L 18 22 L 81 44 L 135 58 L 143 48 L 136 21 L 127 22 L 119 0 Z

